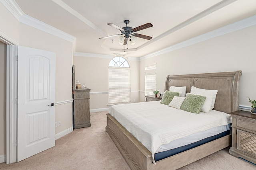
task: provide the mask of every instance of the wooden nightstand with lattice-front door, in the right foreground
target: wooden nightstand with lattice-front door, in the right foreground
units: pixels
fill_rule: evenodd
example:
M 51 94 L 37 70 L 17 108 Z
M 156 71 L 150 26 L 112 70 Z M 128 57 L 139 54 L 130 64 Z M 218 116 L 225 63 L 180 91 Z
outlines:
M 231 112 L 232 147 L 229 153 L 256 164 L 256 115 L 248 111 Z

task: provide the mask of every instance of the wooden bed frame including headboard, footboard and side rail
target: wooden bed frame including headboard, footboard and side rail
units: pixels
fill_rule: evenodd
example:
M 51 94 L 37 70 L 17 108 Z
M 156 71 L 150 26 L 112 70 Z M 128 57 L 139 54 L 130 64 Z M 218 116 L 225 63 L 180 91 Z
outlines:
M 190 92 L 192 86 L 218 90 L 214 109 L 230 113 L 239 109 L 241 75 L 241 71 L 236 71 L 167 76 L 165 90 L 170 86 L 186 86 L 186 92 Z M 132 170 L 175 170 L 231 145 L 230 134 L 153 164 L 151 152 L 110 114 L 107 114 L 106 131 Z

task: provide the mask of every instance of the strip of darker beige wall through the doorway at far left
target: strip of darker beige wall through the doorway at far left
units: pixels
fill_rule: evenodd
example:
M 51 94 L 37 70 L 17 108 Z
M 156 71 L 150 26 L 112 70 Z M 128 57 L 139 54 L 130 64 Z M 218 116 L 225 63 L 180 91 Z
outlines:
M 6 45 L 0 41 L 0 155 L 6 154 Z

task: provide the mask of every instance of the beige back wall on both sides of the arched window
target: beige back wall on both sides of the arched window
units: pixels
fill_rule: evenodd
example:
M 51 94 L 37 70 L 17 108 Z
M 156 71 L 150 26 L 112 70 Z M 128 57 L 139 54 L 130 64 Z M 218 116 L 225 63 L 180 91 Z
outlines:
M 100 55 L 99 55 L 100 57 Z M 90 88 L 90 109 L 108 106 L 108 64 L 110 58 L 74 56 L 76 80 Z M 139 61 L 127 61 L 130 64 L 131 102 L 139 101 Z M 95 92 L 99 94 L 94 94 Z

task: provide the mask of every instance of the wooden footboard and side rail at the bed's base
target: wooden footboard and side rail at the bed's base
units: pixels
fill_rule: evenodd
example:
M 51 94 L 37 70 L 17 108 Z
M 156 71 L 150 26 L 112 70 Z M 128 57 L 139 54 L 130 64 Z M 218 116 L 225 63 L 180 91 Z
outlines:
M 106 132 L 132 170 L 178 169 L 231 145 L 231 135 L 152 163 L 151 152 L 132 136 L 114 117 L 107 114 Z

